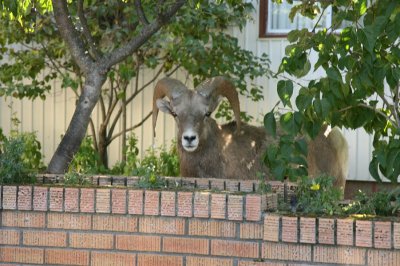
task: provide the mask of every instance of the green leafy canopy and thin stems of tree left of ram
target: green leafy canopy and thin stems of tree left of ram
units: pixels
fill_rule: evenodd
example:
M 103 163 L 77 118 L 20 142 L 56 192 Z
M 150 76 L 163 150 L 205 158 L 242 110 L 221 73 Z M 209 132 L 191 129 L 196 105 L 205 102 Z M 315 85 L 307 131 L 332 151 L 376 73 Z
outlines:
M 146 27 L 147 21 L 157 17 L 157 5 L 154 1 L 136 1 L 134 5 L 119 0 L 78 1 L 70 4 L 68 11 L 73 24 L 81 29 L 76 32 L 76 37 L 83 40 L 81 45 L 87 48 L 86 55 L 95 62 L 94 65 L 100 67 L 107 56 L 113 54 L 111 51 L 120 51 L 122 44 L 128 43 L 132 36 L 140 36 L 139 32 Z M 168 9 L 168 6 L 158 7 L 161 10 Z M 161 75 L 172 75 L 183 69 L 192 77 L 194 85 L 207 77 L 229 75 L 236 80 L 243 95 L 254 100 L 262 97 L 261 88 L 255 84 L 247 86 L 246 78 L 254 79 L 268 74 L 267 57 L 257 58 L 241 49 L 237 40 L 226 33 L 229 27 L 243 27 L 252 10 L 251 4 L 239 0 L 210 3 L 190 1 L 180 8 L 176 18 L 154 33 L 149 41 L 143 42 L 120 62 L 103 69 L 107 73 L 102 74 L 105 85 L 102 85 L 102 92 L 96 96 L 99 99 L 102 122 L 98 129 L 90 119 L 88 122 L 102 165 L 108 166 L 108 145 L 118 137 L 123 138 L 121 143 L 126 143 L 126 133 L 144 123 L 141 121 L 127 128 L 126 106 L 143 90 L 150 88 L 152 82 Z M 70 45 L 65 46 L 62 42 L 52 16 L 38 12 L 31 12 L 30 15 L 25 16 L 24 22 L 35 21 L 34 31 L 26 30 L 27 27 L 21 27 L 16 21 L 0 22 L 4 24 L 0 34 L 5 39 L 10 36 L 8 46 L 4 44 L 0 47 L 13 59 L 12 64 L 0 66 L 1 73 L 4 73 L 0 74 L 0 81 L 4 84 L 0 87 L 0 94 L 19 98 L 44 97 L 50 89 L 50 81 L 61 78 L 63 87 L 71 88 L 77 96 L 84 97 L 88 74 L 76 62 L 73 53 L 69 52 Z M 22 43 L 24 49 L 15 50 L 9 47 L 10 43 Z M 139 86 L 137 79 L 140 72 L 146 69 L 155 69 L 156 74 L 144 86 Z M 27 84 L 26 80 L 22 82 L 23 78 L 28 78 L 30 83 Z M 127 88 L 132 79 L 136 81 L 133 82 L 133 93 L 129 94 Z M 231 114 L 228 110 L 227 104 L 221 105 L 220 115 L 229 118 Z M 150 113 L 145 119 L 149 116 Z M 116 125 L 121 119 L 122 131 L 116 132 Z M 66 138 L 68 141 L 75 139 L 68 137 L 67 132 L 52 159 L 54 163 L 49 165 L 49 172 L 61 170 L 61 165 L 57 169 L 53 165 L 58 161 L 56 158 L 59 158 L 60 153 L 67 154 L 62 148 Z M 69 149 L 69 156 L 73 153 Z M 66 159 L 62 160 L 63 164 L 67 163 Z

